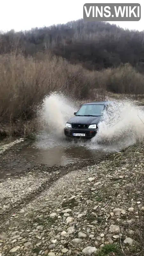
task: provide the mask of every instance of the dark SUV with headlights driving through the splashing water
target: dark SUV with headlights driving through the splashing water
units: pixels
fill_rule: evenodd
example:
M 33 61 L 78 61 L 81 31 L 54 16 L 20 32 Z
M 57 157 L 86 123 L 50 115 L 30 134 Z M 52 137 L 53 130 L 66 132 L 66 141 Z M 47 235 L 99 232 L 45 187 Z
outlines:
M 90 139 L 98 131 L 98 124 L 104 110 L 108 110 L 116 102 L 114 101 L 95 101 L 85 103 L 74 113 L 64 128 L 64 133 L 68 137 L 83 137 Z

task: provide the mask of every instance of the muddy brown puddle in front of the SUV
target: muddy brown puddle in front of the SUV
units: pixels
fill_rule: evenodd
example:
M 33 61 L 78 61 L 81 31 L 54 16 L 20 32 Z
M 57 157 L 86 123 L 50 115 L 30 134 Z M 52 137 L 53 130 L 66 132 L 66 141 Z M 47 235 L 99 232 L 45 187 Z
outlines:
M 43 163 L 48 166 L 67 165 L 84 161 L 89 158 L 104 156 L 109 149 L 95 146 L 91 148 L 90 141 L 56 139 L 52 135 L 44 135 L 34 143 L 24 146 L 17 155 L 21 155 L 28 162 Z

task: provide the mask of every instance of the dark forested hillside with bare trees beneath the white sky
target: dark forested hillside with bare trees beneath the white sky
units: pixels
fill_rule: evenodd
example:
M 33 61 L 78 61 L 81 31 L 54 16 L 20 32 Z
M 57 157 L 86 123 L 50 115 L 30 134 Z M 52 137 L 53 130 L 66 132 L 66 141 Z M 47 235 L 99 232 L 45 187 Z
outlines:
M 15 51 L 35 56 L 47 49 L 88 69 L 130 63 L 143 72 L 144 32 L 129 31 L 105 22 L 77 20 L 67 24 L 0 35 L 0 53 Z

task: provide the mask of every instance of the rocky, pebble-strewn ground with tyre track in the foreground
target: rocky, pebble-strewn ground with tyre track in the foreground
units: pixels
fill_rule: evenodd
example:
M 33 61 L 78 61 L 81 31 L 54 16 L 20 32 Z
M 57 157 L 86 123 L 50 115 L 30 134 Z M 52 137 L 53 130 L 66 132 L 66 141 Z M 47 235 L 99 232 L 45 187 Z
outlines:
M 0 256 L 144 255 L 143 154 L 139 145 L 77 166 L 25 163 L 23 172 L 19 161 L 15 175 L 3 156 Z

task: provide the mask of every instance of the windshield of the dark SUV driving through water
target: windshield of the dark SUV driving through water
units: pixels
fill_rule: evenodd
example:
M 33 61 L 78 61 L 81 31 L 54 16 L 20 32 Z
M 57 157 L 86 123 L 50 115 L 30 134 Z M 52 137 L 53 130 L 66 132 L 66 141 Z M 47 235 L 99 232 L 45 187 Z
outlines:
M 76 113 L 76 116 L 101 116 L 104 110 L 102 104 L 83 105 Z

